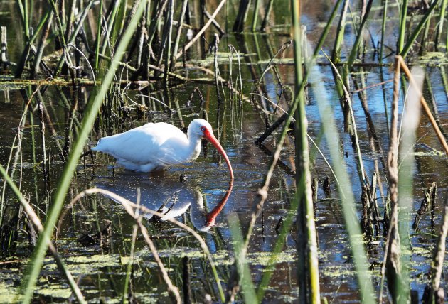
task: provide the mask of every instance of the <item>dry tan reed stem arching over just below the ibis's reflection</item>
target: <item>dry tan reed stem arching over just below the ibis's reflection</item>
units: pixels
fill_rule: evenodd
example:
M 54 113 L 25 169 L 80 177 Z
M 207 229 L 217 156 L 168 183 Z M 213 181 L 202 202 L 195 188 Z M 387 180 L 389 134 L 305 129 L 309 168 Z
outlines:
M 146 208 L 142 205 L 137 205 L 134 202 L 131 202 L 130 200 L 127 200 L 124 197 L 121 197 L 121 196 L 115 194 L 114 192 L 110 192 L 108 190 L 98 189 L 98 188 L 87 189 L 87 190 L 84 190 L 84 191 L 78 193 L 78 195 L 76 195 L 75 198 L 73 198 L 73 200 L 70 202 L 70 204 L 67 205 L 67 207 L 65 207 L 65 208 L 72 207 L 73 204 L 75 204 L 75 202 L 80 200 L 80 198 L 85 197 L 85 195 L 92 195 L 92 194 L 97 194 L 97 193 L 100 193 L 102 195 L 110 197 L 112 200 L 122 204 L 124 209 L 126 209 L 126 211 L 131 216 L 134 215 L 134 209 L 135 209 L 135 210 L 139 210 L 140 212 L 148 213 L 150 215 L 155 215 L 156 217 L 164 217 L 164 215 L 160 212 L 156 212 L 156 211 Z M 194 229 L 192 229 L 191 227 L 188 227 L 186 224 L 178 222 L 178 220 L 170 218 L 170 217 L 166 217 L 165 219 L 167 222 L 171 222 L 172 224 L 175 224 L 176 226 L 180 227 L 181 229 L 186 230 L 186 232 L 190 233 L 191 235 L 193 235 L 193 237 L 195 237 L 198 240 L 199 244 L 201 245 L 201 249 L 204 251 L 204 254 L 206 254 L 208 261 L 210 263 L 210 268 L 212 269 L 213 276 L 215 277 L 216 285 L 217 285 L 218 291 L 220 293 L 220 300 L 224 303 L 225 302 L 224 291 L 223 291 L 223 288 L 220 283 L 220 278 L 218 276 L 218 271 L 216 270 L 215 262 L 213 261 L 213 258 L 210 254 L 210 250 L 208 250 L 206 241 L 204 241 L 203 238 L 201 237 L 201 235 L 199 235 Z M 146 233 L 147 233 L 147 230 L 146 230 Z

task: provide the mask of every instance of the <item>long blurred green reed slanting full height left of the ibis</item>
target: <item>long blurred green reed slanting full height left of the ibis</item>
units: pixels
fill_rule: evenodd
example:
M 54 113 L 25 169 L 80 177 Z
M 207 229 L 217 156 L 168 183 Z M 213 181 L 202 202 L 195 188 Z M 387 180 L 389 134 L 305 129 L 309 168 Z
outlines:
M 137 8 L 135 18 L 131 21 L 131 23 L 129 23 L 129 27 L 125 31 L 122 41 L 120 41 L 118 45 L 114 60 L 112 60 L 112 63 L 107 70 L 107 74 L 105 75 L 100 89 L 98 89 L 95 97 L 93 97 L 87 105 L 87 110 L 85 112 L 84 119 L 82 119 L 82 127 L 80 129 L 78 139 L 73 145 L 73 149 L 70 153 L 70 157 L 68 158 L 68 162 L 65 164 L 65 168 L 60 177 L 58 188 L 55 190 L 53 205 L 50 207 L 50 212 L 48 213 L 44 231 L 38 239 L 38 244 L 33 252 L 33 258 L 26 266 L 26 275 L 23 277 L 21 286 L 23 291 L 23 303 L 31 302 L 33 291 L 36 287 L 37 278 L 39 276 L 39 273 L 41 272 L 43 258 L 47 251 L 47 244 L 48 241 L 50 241 L 55 223 L 57 222 L 60 215 L 60 210 L 63 207 L 65 195 L 67 195 L 68 188 L 70 187 L 70 182 L 73 178 L 73 174 L 75 173 L 76 166 L 78 165 L 78 160 L 81 156 L 82 148 L 87 141 L 90 131 L 92 130 L 92 126 L 95 122 L 97 113 L 100 111 L 102 101 L 109 90 L 110 84 L 112 83 L 115 75 L 115 71 L 119 66 L 119 61 L 122 59 L 124 51 L 126 50 L 127 45 L 132 38 L 132 34 L 137 28 L 138 21 L 142 17 L 145 6 L 146 0 L 142 0 L 139 7 Z

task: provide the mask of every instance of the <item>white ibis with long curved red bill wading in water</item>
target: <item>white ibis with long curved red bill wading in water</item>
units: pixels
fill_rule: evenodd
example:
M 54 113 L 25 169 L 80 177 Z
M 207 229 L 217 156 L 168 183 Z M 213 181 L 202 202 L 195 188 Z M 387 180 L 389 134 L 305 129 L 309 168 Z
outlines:
M 195 160 L 201 153 L 202 138 L 210 141 L 221 153 L 233 181 L 229 158 L 204 119 L 191 121 L 187 136 L 171 124 L 150 122 L 124 133 L 103 137 L 92 150 L 110 154 L 128 170 L 151 172 Z

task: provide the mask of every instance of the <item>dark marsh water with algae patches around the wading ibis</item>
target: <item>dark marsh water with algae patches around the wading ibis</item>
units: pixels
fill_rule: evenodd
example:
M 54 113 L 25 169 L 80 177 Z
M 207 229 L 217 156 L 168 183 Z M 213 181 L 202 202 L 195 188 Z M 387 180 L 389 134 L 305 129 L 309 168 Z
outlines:
M 148 121 L 166 121 L 179 128 L 186 128 L 188 123 L 208 115 L 208 121 L 213 126 L 215 134 L 230 158 L 235 172 L 235 182 L 228 200 L 223 202 L 228 186 L 229 176 L 225 162 L 213 146 L 205 145 L 201 156 L 193 163 L 178 165 L 168 168 L 160 173 L 134 173 L 115 165 L 114 159 L 101 153 L 94 156 L 87 154 L 78 165 L 77 175 L 70 185 L 70 191 L 66 200 L 68 206 L 63 210 L 63 217 L 58 223 L 55 244 L 73 273 L 85 298 L 92 303 L 121 302 L 124 285 L 127 280 L 129 254 L 132 246 L 132 232 L 134 219 L 127 215 L 122 205 L 106 195 L 88 195 L 78 202 L 70 205 L 71 200 L 78 193 L 89 188 L 109 190 L 133 202 L 151 210 L 159 210 L 166 217 L 175 219 L 196 229 L 206 241 L 213 259 L 218 266 L 218 274 L 225 288 L 231 277 L 231 266 L 234 261 L 232 235 L 228 224 L 228 215 L 238 215 L 240 225 L 244 231 L 250 220 L 250 212 L 265 176 L 270 162 L 270 153 L 274 150 L 279 130 L 269 136 L 263 146 L 255 145 L 255 141 L 263 134 L 267 125 L 272 124 L 282 112 L 267 102 L 257 97 L 260 89 L 257 82 L 262 75 L 270 58 L 277 53 L 282 44 L 289 38 L 289 24 L 284 21 L 289 18 L 286 1 L 279 1 L 274 8 L 276 16 L 275 24 L 270 31 L 263 34 L 245 34 L 236 36 L 228 34 L 220 38 L 220 50 L 218 63 L 221 76 L 228 79 L 230 72 L 238 74 L 237 55 L 233 53 L 233 63 L 230 65 L 228 45 L 231 44 L 240 53 L 242 91 L 247 98 L 242 100 L 230 99 L 223 95 L 223 101 L 218 104 L 218 97 L 213 81 L 186 82 L 169 89 L 159 86 L 157 82 L 151 82 L 146 92 L 151 97 L 159 99 L 166 104 L 145 99 L 137 89 L 122 87 L 123 100 L 121 112 L 114 109 L 103 109 L 107 114 L 101 114 L 97 119 L 95 128 L 91 132 L 90 143 L 85 147 L 89 151 L 102 136 L 117 134 L 134 126 L 141 126 Z M 309 11 L 304 11 L 302 22 L 308 31 L 309 43 L 321 32 L 320 23 L 326 20 L 330 9 L 322 8 L 330 4 L 322 1 L 309 1 L 306 4 Z M 230 11 L 235 10 L 235 5 L 230 5 Z M 394 9 L 394 8 L 392 8 Z M 324 11 L 325 13 L 322 13 Z M 326 12 L 328 11 L 328 13 Z M 2 1 L 0 3 L 0 26 L 8 27 L 9 54 L 12 62 L 19 60 L 18 50 L 21 44 L 20 27 L 14 27 L 16 7 L 14 2 Z M 379 16 L 379 15 L 378 15 Z M 375 18 L 372 19 L 375 28 Z M 393 22 L 393 20 L 389 21 Z M 378 21 L 379 26 L 379 21 Z M 348 37 L 351 37 L 348 27 Z M 208 33 L 209 40 L 211 34 Z M 390 45 L 393 45 L 391 33 Z M 378 39 L 373 33 L 373 38 Z M 331 45 L 327 45 L 330 47 Z M 16 49 L 17 48 L 17 49 Z M 294 67 L 292 65 L 292 47 L 284 50 L 282 58 L 277 59 L 277 74 L 270 71 L 262 81 L 262 91 L 274 104 L 279 104 L 287 109 L 287 87 L 294 87 Z M 370 50 L 372 51 L 372 50 Z M 373 51 L 372 51 L 373 53 Z M 191 79 L 209 78 L 213 75 L 204 72 L 205 69 L 213 70 L 213 55 L 201 54 L 193 51 L 192 60 L 183 69 L 183 75 Z M 391 63 L 393 58 L 386 58 L 386 63 Z M 443 75 L 446 71 L 445 58 L 441 58 L 442 67 L 425 67 L 425 87 L 430 85 L 430 90 L 425 90 L 425 97 L 433 100 L 437 105 L 439 121 L 447 128 L 448 102 L 447 87 L 444 87 Z M 366 62 L 368 63 L 368 58 Z M 350 136 L 343 131 L 343 112 L 335 89 L 335 78 L 326 59 L 319 57 L 318 65 L 326 93 L 331 98 L 331 107 L 341 134 L 341 153 L 345 155 L 348 173 L 351 176 L 351 184 L 355 193 L 356 202 L 361 210 L 361 186 L 358 180 L 355 151 L 351 146 Z M 415 63 L 417 65 L 418 63 Z M 425 63 L 422 63 L 425 66 Z M 125 73 L 125 72 L 124 72 Z M 369 66 L 360 67 L 358 75 L 353 76 L 358 80 L 352 90 L 358 87 L 369 87 L 380 82 L 384 85 L 375 86 L 363 91 L 368 104 L 369 117 L 375 126 L 375 134 L 378 145 L 382 151 L 388 151 L 388 124 L 390 124 L 390 101 L 392 99 L 393 77 L 391 67 Z M 125 79 L 123 75 L 123 79 Z M 281 85 L 279 85 L 279 80 Z M 239 82 L 239 80 L 238 80 Z M 205 99 L 201 100 L 195 95 L 191 99 L 191 93 L 198 87 Z M 312 87 L 312 84 L 311 84 Z M 42 136 L 39 112 L 36 105 L 31 104 L 25 110 L 28 100 L 23 92 L 33 92 L 35 86 L 15 85 L 8 77 L 0 82 L 0 161 L 6 166 L 9 164 L 9 172 L 21 187 L 21 192 L 27 195 L 29 201 L 36 208 L 41 219 L 46 217 L 46 212 L 52 204 L 52 195 L 58 185 L 58 177 L 64 168 L 64 160 L 58 155 L 77 135 L 77 128 L 82 121 L 85 104 L 94 87 L 46 87 L 43 94 L 45 107 L 45 131 Z M 286 96 L 286 97 L 285 97 Z M 324 130 L 316 105 L 316 97 L 312 89 L 308 92 L 309 103 L 306 105 L 306 116 L 309 123 L 309 136 L 319 146 L 322 154 L 329 159 L 329 151 L 324 140 Z M 385 168 L 383 167 L 385 152 L 373 151 L 372 130 L 368 128 L 366 109 L 363 108 L 360 95 L 354 92 L 353 110 L 356 117 L 357 131 L 361 144 L 366 175 L 371 177 L 375 168 L 379 168 L 380 179 L 383 185 L 377 190 L 380 214 L 383 214 L 383 206 L 386 202 L 387 182 Z M 191 100 L 191 102 L 190 102 Z M 290 100 L 290 99 L 289 99 Z M 144 109 L 141 107 L 144 105 Z M 400 113 L 402 112 L 400 102 Z M 143 109 L 143 110 L 142 110 Z M 25 113 L 25 114 L 24 114 Z M 24 123 L 21 123 L 24 114 Z M 403 124 L 406 121 L 402 122 Z M 43 150 L 43 142 L 45 146 Z M 348 246 L 347 234 L 344 226 L 341 202 L 338 200 L 337 185 L 334 176 L 329 169 L 324 157 L 319 153 L 313 143 L 310 142 L 311 153 L 311 178 L 319 180 L 317 189 L 317 202 L 315 205 L 316 229 L 319 238 L 319 274 L 321 279 L 321 295 L 332 303 L 358 302 L 358 287 L 356 273 L 354 272 L 353 259 Z M 129 147 L 131 148 L 131 147 Z M 48 164 L 48 180 L 42 169 L 43 151 L 50 159 Z M 417 129 L 417 143 L 415 144 L 415 171 L 410 172 L 414 178 L 413 202 L 414 207 L 409 215 L 409 224 L 415 217 L 420 207 L 420 202 L 425 197 L 425 190 L 437 182 L 437 205 L 435 207 L 435 221 L 426 215 L 420 222 L 417 231 L 412 230 L 410 241 L 412 245 L 411 255 L 411 288 L 422 298 L 426 283 L 429 282 L 430 259 L 440 225 L 440 213 L 442 200 L 446 199 L 448 188 L 447 157 L 440 153 L 441 146 L 437 137 L 432 132 L 432 126 L 422 115 L 420 126 Z M 272 257 L 271 251 L 279 238 L 278 225 L 284 217 L 292 212 L 289 210 L 290 202 L 294 197 L 294 136 L 288 135 L 282 156 L 281 164 L 274 170 L 274 176 L 270 184 L 267 202 L 262 215 L 257 219 L 254 235 L 250 241 L 248 261 L 252 273 L 252 280 L 260 282 L 261 276 Z M 3 185 L 4 181 L 1 180 Z M 5 204 L 17 203 L 14 195 L 2 190 Z M 221 205 L 220 205 L 221 204 Z M 210 224 L 208 215 L 216 206 L 223 207 L 214 222 Z M 3 208 L 2 208 L 3 209 Z M 14 208 L 6 207 L 3 223 L 14 219 Z M 293 210 L 294 211 L 294 210 Z M 359 216 L 358 216 L 359 217 Z M 180 229 L 164 218 L 146 217 L 144 224 L 156 248 L 161 256 L 169 276 L 176 286 L 182 286 L 182 280 L 189 269 L 191 295 L 194 302 L 205 302 L 207 295 L 217 302 L 218 290 L 215 287 L 214 278 L 210 272 L 208 260 L 205 258 L 201 246 L 196 239 L 185 230 Z M 32 247 L 27 237 L 26 227 L 13 227 L 17 230 L 16 239 L 11 243 L 2 238 L 3 243 L 0 261 L 0 302 L 7 303 L 18 291 L 23 276 L 23 269 L 32 252 Z M 296 246 L 297 236 L 294 228 L 288 234 L 284 249 L 281 254 L 275 256 L 277 262 L 274 274 L 267 288 L 266 303 L 291 303 L 297 300 L 297 265 Z M 381 283 L 381 264 L 383 263 L 384 237 L 378 235 L 374 240 L 366 244 L 368 261 L 373 273 L 373 280 L 377 292 Z M 184 265 L 184 259 L 188 259 L 189 266 Z M 129 280 L 129 288 L 132 299 L 139 303 L 164 303 L 171 301 L 166 285 L 161 278 L 159 268 L 154 262 L 154 257 L 141 237 L 137 238 L 134 249 L 134 261 Z M 447 273 L 447 257 L 445 257 L 444 272 Z M 446 278 L 442 278 L 442 286 L 447 288 Z M 182 289 L 182 288 L 181 288 Z M 126 298 L 126 297 L 125 297 Z M 68 285 L 63 281 L 51 257 L 46 259 L 41 277 L 36 289 L 36 301 L 66 302 L 73 300 L 73 295 Z

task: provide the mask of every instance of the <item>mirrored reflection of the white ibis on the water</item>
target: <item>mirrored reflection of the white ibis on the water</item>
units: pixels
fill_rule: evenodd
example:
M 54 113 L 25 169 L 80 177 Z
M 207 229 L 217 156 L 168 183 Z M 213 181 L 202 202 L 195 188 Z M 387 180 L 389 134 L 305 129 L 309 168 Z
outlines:
M 95 184 L 97 188 L 109 190 L 131 202 L 137 202 L 137 188 L 140 189 L 140 204 L 151 210 L 164 214 L 160 219 L 183 215 L 188 208 L 193 226 L 206 232 L 215 224 L 216 217 L 227 202 L 233 185 L 230 184 L 224 197 L 213 210 L 206 212 L 203 207 L 201 189 L 174 180 L 146 178 L 142 175 L 123 175 L 112 181 L 100 181 Z M 147 219 L 153 219 L 154 215 L 145 215 Z M 157 217 L 157 219 L 159 219 Z

